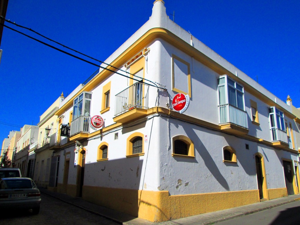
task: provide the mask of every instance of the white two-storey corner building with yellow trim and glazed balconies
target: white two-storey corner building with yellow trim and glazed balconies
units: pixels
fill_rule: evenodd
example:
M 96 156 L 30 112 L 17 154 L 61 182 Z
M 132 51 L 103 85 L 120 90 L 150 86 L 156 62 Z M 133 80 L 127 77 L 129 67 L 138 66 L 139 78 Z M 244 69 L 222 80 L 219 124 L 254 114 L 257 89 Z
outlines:
M 55 149 L 52 190 L 150 221 L 299 192 L 291 107 L 191 41 L 163 1 L 105 62 L 110 70 L 79 85 L 55 113 L 71 126 Z M 178 93 L 189 97 L 184 113 L 171 106 Z M 97 115 L 104 126 L 93 130 Z

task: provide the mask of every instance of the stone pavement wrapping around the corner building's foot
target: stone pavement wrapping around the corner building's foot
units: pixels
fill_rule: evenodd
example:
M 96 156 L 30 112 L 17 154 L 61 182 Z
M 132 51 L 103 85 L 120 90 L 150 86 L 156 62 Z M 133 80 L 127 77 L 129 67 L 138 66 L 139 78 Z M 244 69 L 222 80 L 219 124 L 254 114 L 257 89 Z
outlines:
M 63 202 L 67 202 L 71 205 L 75 205 L 79 208 L 85 209 L 91 213 L 100 215 L 107 219 L 113 220 L 117 223 L 124 225 L 206 225 L 217 223 L 223 220 L 229 220 L 235 217 L 255 213 L 258 211 L 266 210 L 269 208 L 274 208 L 279 205 L 287 204 L 289 202 L 300 200 L 300 194 L 289 195 L 286 197 L 272 199 L 264 202 L 257 202 L 251 205 L 244 205 L 236 208 L 229 208 L 225 210 L 209 212 L 205 214 L 199 214 L 195 216 L 185 217 L 177 220 L 170 220 L 160 223 L 152 223 L 147 220 L 143 220 L 137 217 L 133 217 L 123 212 L 119 212 L 110 208 L 106 208 L 100 205 L 96 205 L 91 202 L 87 202 L 81 198 L 73 198 L 66 194 L 52 192 L 47 189 L 40 188 L 42 193 L 53 196 L 60 199 Z

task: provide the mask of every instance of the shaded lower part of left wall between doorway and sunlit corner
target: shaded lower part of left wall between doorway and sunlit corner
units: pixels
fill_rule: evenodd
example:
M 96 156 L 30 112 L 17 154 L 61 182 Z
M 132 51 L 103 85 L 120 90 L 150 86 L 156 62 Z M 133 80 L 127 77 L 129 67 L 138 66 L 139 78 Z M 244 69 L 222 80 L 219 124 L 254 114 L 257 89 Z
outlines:
M 85 164 L 83 199 L 137 217 L 142 167 L 140 157 Z

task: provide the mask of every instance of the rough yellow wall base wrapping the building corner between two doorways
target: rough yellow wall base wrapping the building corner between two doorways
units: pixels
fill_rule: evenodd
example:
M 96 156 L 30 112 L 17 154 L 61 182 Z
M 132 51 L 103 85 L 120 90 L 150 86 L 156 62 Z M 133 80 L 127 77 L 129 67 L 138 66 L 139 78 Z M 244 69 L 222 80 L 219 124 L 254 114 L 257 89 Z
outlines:
M 152 222 L 259 202 L 258 190 L 169 196 L 168 191 L 83 186 L 82 198 Z

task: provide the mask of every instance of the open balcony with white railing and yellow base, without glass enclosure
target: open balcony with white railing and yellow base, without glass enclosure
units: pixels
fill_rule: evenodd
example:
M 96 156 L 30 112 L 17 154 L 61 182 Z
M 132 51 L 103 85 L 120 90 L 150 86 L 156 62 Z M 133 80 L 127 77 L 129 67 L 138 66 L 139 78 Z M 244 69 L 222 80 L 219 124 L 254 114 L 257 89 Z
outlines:
M 149 109 L 149 85 L 137 82 L 115 96 L 114 122 L 128 122 L 145 115 L 147 109 Z

